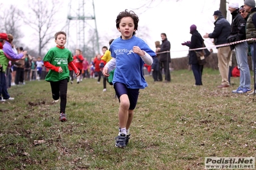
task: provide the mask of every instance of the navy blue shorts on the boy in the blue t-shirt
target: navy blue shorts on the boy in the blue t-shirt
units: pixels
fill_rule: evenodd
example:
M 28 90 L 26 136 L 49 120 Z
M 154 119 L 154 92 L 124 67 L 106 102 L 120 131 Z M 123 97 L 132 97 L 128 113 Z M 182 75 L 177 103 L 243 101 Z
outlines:
M 115 82 L 114 84 L 115 94 L 117 95 L 119 102 L 121 95 L 128 95 L 130 101 L 129 110 L 134 110 L 137 104 L 137 100 L 139 97 L 139 89 L 128 89 L 125 84 L 121 82 Z

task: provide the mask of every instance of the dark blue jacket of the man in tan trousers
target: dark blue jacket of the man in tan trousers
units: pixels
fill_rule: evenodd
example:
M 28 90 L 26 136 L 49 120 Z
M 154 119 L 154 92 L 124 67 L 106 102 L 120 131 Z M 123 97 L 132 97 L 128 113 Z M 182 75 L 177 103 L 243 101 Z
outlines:
M 214 22 L 214 31 L 209 34 L 209 38 L 214 38 L 214 44 L 219 45 L 223 43 L 228 43 L 226 38 L 230 35 L 231 26 L 228 20 L 223 16 L 219 16 Z

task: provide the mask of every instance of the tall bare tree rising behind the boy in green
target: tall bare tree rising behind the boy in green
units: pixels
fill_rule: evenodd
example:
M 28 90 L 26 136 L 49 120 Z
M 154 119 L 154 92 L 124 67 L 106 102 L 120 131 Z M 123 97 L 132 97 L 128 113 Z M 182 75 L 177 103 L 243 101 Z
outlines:
M 42 55 L 42 49 L 53 39 L 60 20 L 56 20 L 56 14 L 60 9 L 60 1 L 57 0 L 36 0 L 30 1 L 28 6 L 30 12 L 26 18 L 26 24 L 34 29 L 38 36 L 38 54 Z

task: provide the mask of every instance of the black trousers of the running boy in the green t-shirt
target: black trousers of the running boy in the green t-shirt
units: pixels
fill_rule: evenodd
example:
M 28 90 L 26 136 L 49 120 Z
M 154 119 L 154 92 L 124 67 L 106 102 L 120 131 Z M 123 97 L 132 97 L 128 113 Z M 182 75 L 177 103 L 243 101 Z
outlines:
M 51 81 L 51 93 L 54 100 L 60 98 L 60 113 L 65 113 L 67 105 L 67 79 L 60 81 Z

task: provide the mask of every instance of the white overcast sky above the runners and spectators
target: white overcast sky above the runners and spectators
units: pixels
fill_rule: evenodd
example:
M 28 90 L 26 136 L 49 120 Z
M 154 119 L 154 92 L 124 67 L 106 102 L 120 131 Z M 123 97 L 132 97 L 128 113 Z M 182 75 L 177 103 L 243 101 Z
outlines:
M 85 1 L 88 3 L 87 6 L 92 9 L 92 5 L 90 5 L 92 0 Z M 243 0 L 234 1 L 238 2 L 239 6 L 243 5 Z M 68 2 L 68 0 L 63 1 L 62 15 L 59 16 L 64 21 L 67 20 L 69 11 Z M 148 10 L 145 7 L 136 9 L 145 2 L 146 0 L 94 0 L 99 37 L 102 43 L 105 42 L 101 45 L 108 46 L 108 40 L 117 38 L 119 32 L 115 27 L 115 19 L 119 12 L 128 9 L 133 10 L 139 16 L 137 36 L 144 39 L 149 47 L 155 50 L 155 41 L 161 41 L 160 33 L 166 33 L 171 42 L 171 58 L 184 57 L 188 54 L 188 47 L 182 46 L 181 43 L 191 39 L 189 27 L 196 24 L 202 36 L 205 33 L 211 33 L 214 29 L 214 17 L 212 15 L 215 10 L 219 9 L 219 0 L 180 0 L 178 2 L 176 0 L 163 0 L 162 3 L 151 4 L 153 8 L 148 8 Z M 0 3 L 16 4 L 23 9 L 26 9 L 27 6 L 26 0 L 8 0 L 7 2 L 0 0 Z M 73 0 L 73 3 L 78 3 L 78 0 Z M 144 33 L 145 27 L 148 27 L 146 29 L 148 33 Z M 145 34 L 148 36 L 144 37 Z M 25 37 L 30 37 L 30 33 L 26 34 Z M 205 40 L 207 47 L 211 47 L 212 40 Z M 55 43 L 53 42 L 51 45 L 55 45 Z

